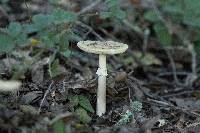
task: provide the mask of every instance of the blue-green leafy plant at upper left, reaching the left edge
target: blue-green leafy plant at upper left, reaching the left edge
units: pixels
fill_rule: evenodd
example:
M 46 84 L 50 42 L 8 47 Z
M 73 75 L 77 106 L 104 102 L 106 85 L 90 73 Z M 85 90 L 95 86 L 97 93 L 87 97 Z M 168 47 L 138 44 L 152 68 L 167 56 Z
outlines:
M 12 22 L 7 28 L 1 28 L 1 52 L 9 52 L 15 46 L 29 45 L 27 36 L 37 33 L 34 38 L 37 38 L 42 47 L 56 48 L 66 55 L 64 51 L 68 50 L 69 41 L 78 38 L 71 29 L 76 20 L 75 13 L 55 9 L 51 14 L 33 16 L 30 24 Z

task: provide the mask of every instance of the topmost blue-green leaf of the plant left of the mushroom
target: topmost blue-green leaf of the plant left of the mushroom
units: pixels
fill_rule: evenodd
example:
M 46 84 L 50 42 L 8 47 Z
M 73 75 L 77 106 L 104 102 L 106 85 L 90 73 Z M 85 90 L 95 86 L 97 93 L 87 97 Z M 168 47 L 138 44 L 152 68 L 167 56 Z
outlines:
M 66 12 L 62 9 L 56 9 L 52 16 L 56 23 L 63 23 L 63 22 L 75 22 L 77 20 L 77 15 L 73 12 Z

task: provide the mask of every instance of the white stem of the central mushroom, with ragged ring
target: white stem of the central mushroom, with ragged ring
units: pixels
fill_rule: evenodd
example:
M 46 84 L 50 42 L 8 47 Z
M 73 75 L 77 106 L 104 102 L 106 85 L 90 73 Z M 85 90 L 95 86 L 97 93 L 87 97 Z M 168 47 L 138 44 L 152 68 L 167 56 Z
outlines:
M 99 68 L 96 72 L 98 75 L 97 90 L 97 115 L 102 116 L 106 112 L 106 55 L 99 55 Z

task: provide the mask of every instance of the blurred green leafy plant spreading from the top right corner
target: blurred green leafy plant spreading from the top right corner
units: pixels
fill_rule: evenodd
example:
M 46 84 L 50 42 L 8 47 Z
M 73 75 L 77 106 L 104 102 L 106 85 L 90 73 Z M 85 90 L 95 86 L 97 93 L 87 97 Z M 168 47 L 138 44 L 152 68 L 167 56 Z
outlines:
M 197 53 L 200 47 L 200 1 L 199 0 L 156 0 L 158 11 L 152 9 L 144 13 L 144 19 L 153 23 L 153 31 L 156 37 L 164 46 L 172 46 L 175 42 L 170 33 L 169 22 L 161 20 L 167 17 L 174 25 L 180 26 L 182 30 L 181 40 L 189 38 L 193 42 Z M 161 15 L 161 16 L 160 16 Z M 169 24 L 168 24 L 169 23 Z

